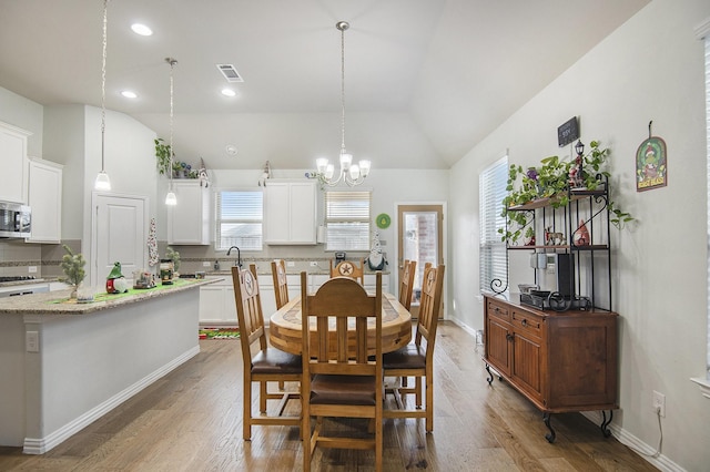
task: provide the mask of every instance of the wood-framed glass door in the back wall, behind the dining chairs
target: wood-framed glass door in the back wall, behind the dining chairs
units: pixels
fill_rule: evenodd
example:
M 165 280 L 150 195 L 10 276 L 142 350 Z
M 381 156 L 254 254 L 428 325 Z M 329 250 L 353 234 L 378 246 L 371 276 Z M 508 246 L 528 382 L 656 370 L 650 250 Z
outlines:
M 424 266 L 444 264 L 444 206 L 443 205 L 397 205 L 397 261 L 402 279 L 404 261 L 416 260 L 417 268 L 412 290 L 412 316 L 419 315 L 419 299 Z M 439 317 L 444 307 L 439 311 Z

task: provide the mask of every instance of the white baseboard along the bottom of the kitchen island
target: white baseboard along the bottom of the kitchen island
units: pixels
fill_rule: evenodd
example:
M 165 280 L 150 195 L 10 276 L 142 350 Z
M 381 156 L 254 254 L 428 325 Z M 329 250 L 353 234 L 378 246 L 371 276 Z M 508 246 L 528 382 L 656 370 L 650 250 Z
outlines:
M 129 386 L 126 389 L 114 394 L 103 403 L 98 404 L 44 438 L 24 438 L 24 448 L 22 449 L 22 452 L 26 454 L 45 453 L 199 353 L 200 346 L 193 347 L 163 367 L 149 373 L 138 382 Z

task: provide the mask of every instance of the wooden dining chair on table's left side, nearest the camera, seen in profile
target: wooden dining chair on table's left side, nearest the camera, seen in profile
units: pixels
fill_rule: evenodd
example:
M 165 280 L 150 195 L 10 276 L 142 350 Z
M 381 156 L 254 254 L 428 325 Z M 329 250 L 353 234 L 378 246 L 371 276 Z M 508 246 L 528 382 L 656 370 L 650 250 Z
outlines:
M 301 398 L 297 392 L 270 392 L 268 382 L 298 382 L 301 384 L 301 356 L 284 352 L 270 347 L 266 342 L 264 315 L 262 312 L 256 265 L 248 269 L 232 267 L 236 317 L 240 325 L 240 343 L 242 345 L 243 374 L 243 437 L 251 440 L 252 425 L 301 425 L 298 415 L 284 415 L 288 400 Z M 253 352 L 254 351 L 254 352 Z M 252 383 L 258 383 L 260 415 L 252 413 Z M 266 401 L 280 400 L 275 414 L 267 414 Z

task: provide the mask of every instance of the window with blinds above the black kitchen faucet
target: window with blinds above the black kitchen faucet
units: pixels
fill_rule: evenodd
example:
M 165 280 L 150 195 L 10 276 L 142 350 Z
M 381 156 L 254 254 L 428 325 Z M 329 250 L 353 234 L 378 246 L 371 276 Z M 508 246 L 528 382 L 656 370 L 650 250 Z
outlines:
M 217 192 L 215 249 L 262 250 L 263 193 Z

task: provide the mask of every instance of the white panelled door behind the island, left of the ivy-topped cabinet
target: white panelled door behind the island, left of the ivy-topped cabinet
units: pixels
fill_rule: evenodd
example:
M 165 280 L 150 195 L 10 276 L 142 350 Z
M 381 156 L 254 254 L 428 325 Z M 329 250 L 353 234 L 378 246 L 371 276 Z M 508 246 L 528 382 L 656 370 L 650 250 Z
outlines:
M 121 263 L 125 278 L 146 267 L 148 198 L 94 194 L 91 285 L 101 290 L 113 264 Z

